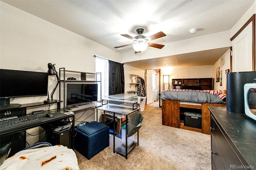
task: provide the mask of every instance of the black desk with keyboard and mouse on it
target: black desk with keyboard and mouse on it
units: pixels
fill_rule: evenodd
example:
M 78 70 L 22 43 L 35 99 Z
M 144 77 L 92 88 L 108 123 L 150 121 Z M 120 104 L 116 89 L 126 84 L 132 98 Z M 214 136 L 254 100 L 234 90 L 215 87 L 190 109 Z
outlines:
M 71 129 L 71 133 L 70 133 L 70 139 L 71 139 L 70 148 L 72 148 L 74 150 L 74 114 L 66 115 L 64 113 L 57 112 L 56 110 L 52 110 L 47 113 L 53 114 L 53 117 L 46 117 L 46 113 L 45 113 L 42 115 L 36 115 L 36 118 L 39 119 L 41 122 L 38 122 L 38 123 L 35 123 L 32 125 L 21 126 L 18 128 L 10 128 L 10 129 L 4 130 L 4 131 L 2 131 L 0 128 L 0 138 L 3 138 L 6 135 L 22 132 L 22 131 L 30 129 L 30 128 L 46 125 L 46 124 L 52 123 L 54 121 L 60 121 L 63 119 L 71 118 L 72 119 L 72 126 L 71 126 L 72 129 Z M 25 138 L 25 140 L 26 140 L 26 138 Z

